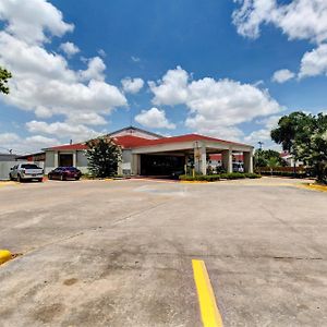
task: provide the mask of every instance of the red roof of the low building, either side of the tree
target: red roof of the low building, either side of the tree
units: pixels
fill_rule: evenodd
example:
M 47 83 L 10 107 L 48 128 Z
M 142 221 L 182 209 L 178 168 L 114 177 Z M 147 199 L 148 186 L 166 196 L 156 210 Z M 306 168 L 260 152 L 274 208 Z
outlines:
M 133 135 L 123 135 L 113 137 L 116 143 L 123 148 L 135 148 L 135 147 L 143 147 L 143 146 L 155 146 L 161 144 L 172 144 L 172 143 L 183 143 L 183 142 L 195 142 L 195 141 L 213 141 L 213 142 L 220 142 L 226 144 L 234 144 L 234 145 L 244 145 L 241 143 L 234 143 L 229 141 L 223 141 L 215 137 L 198 135 L 198 134 L 186 134 L 181 136 L 172 136 L 172 137 L 162 137 L 158 140 L 148 140 Z M 82 150 L 87 149 L 87 146 L 83 143 L 76 144 L 68 144 L 61 146 L 50 147 L 51 150 Z

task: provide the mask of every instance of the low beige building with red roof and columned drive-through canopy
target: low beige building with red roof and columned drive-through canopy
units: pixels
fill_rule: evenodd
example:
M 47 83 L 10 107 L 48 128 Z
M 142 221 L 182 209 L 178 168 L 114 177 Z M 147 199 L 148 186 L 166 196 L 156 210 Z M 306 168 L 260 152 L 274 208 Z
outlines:
M 134 126 L 106 136 L 122 148 L 118 174 L 168 177 L 191 167 L 197 173 L 207 174 L 213 166 L 232 172 L 235 159 L 242 162 L 244 172 L 253 172 L 253 146 L 246 144 L 198 134 L 164 137 Z M 46 148 L 45 172 L 60 166 L 74 166 L 86 173 L 86 148 L 83 143 Z

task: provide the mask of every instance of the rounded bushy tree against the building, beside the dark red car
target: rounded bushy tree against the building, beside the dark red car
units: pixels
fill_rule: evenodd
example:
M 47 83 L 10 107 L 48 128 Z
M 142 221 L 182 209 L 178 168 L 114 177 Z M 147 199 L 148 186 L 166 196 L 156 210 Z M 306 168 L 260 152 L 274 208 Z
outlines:
M 89 171 L 98 178 L 117 174 L 118 164 L 121 161 L 121 147 L 110 137 L 98 137 L 86 142 L 88 149 Z

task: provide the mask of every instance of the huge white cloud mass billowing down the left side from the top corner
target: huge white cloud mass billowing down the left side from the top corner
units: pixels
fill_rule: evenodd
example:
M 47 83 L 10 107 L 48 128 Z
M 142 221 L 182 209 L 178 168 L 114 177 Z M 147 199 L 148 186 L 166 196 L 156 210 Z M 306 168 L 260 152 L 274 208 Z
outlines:
M 106 83 L 106 64 L 101 58 L 88 59 L 85 70 L 70 69 L 66 59 L 46 48 L 52 37 L 73 31 L 61 12 L 45 0 L 1 1 L 0 31 L 1 65 L 13 73 L 11 93 L 1 100 L 23 110 L 34 111 L 38 118 L 56 114 L 65 117 L 64 124 L 102 124 L 101 114 L 126 106 L 125 96 Z M 65 45 L 65 46 L 63 46 Z M 68 46 L 69 45 L 69 46 Z M 73 44 L 62 44 L 73 53 Z M 72 117 L 80 116 L 78 121 Z M 86 122 L 89 118 L 88 122 Z M 75 126 L 74 126 L 75 128 Z M 86 135 L 89 131 L 86 128 Z M 78 134 L 78 133 L 77 133 Z M 58 132 L 58 136 L 61 136 Z

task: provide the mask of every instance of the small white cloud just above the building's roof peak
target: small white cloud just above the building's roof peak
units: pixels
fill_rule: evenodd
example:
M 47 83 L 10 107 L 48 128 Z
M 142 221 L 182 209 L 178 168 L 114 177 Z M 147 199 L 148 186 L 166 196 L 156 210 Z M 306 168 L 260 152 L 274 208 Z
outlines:
M 169 122 L 166 118 L 166 112 L 155 107 L 149 110 L 142 110 L 142 112 L 135 117 L 135 121 L 150 129 L 175 129 L 175 124 Z

